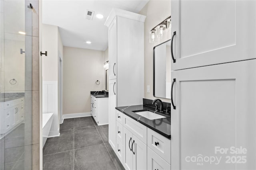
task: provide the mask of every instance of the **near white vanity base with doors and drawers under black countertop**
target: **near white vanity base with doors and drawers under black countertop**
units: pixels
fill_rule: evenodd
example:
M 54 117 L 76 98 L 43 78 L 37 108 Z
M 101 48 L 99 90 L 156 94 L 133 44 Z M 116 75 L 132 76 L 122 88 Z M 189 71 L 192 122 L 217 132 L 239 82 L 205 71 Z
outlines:
M 170 139 L 118 110 L 116 129 L 116 155 L 126 170 L 170 170 Z

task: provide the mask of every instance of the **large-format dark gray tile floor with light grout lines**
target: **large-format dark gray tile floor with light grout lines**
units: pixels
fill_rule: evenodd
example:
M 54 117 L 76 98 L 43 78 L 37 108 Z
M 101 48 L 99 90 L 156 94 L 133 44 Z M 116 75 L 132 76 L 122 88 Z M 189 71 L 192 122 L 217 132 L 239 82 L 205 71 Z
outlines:
M 44 170 L 124 170 L 108 143 L 108 125 L 92 117 L 64 119 L 60 137 L 48 138 L 43 149 Z

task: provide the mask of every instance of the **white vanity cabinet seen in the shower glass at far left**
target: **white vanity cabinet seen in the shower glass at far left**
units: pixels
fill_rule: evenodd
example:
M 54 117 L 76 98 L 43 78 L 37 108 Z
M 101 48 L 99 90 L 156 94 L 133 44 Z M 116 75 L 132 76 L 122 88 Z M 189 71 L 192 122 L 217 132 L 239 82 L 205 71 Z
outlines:
M 24 120 L 24 98 L 1 102 L 1 134 L 9 133 Z

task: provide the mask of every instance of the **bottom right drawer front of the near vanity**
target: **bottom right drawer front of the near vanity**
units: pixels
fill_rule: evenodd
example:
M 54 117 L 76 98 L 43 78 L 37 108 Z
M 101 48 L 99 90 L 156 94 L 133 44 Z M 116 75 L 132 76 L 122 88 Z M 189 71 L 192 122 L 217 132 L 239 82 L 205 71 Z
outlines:
M 148 170 L 170 170 L 171 165 L 148 147 Z

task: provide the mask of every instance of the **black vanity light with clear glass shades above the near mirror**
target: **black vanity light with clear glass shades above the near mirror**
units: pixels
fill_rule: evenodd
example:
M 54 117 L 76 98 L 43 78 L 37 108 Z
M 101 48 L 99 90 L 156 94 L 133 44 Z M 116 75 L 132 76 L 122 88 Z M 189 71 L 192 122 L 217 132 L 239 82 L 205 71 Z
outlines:
M 154 28 L 151 29 L 149 33 L 150 34 L 149 42 L 154 43 L 154 41 L 156 41 L 156 38 L 158 37 L 161 38 L 164 35 L 165 30 L 170 28 L 170 25 L 171 25 L 171 16 L 169 16 L 164 21 L 162 21 L 161 23 L 159 23 L 158 25 L 156 25 Z

